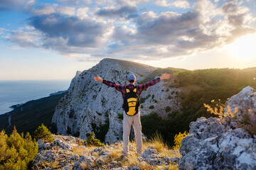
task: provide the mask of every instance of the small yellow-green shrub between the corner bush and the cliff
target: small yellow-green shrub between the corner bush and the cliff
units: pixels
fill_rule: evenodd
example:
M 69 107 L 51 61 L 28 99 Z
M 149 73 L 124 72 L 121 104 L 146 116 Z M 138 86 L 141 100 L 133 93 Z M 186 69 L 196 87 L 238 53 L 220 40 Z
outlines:
M 34 132 L 33 137 L 36 140 L 42 139 L 48 142 L 54 141 L 52 133 L 50 132 L 50 130 L 48 130 L 48 128 L 45 125 L 43 125 L 43 123 L 41 126 L 38 126 L 38 129 Z

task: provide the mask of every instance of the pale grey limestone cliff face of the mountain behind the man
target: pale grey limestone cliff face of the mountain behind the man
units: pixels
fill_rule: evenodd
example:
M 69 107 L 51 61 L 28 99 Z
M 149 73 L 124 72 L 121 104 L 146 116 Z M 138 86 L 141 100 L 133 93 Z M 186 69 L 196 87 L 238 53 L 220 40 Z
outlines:
M 77 72 L 66 94 L 55 108 L 52 123 L 58 133 L 75 135 L 86 139 L 87 134 L 100 130 L 102 125 L 109 123 L 105 142 L 117 142 L 122 139 L 122 120 L 117 113 L 122 113 L 122 94 L 93 79 L 96 75 L 117 84 L 128 84 L 129 74 L 135 74 L 137 82 L 156 69 L 144 64 L 123 60 L 104 59 L 91 69 Z M 164 90 L 163 90 L 164 89 Z M 161 117 L 166 117 L 164 108 L 170 106 L 174 111 L 180 110 L 181 105 L 176 98 L 168 99 L 164 81 L 149 87 L 142 92 L 145 98 L 142 104 L 142 115 L 155 111 Z M 169 88 L 170 89 L 170 88 Z M 178 91 L 178 89 L 173 89 Z M 154 97 L 152 98 L 152 96 Z M 151 96 L 151 97 L 149 97 Z M 157 101 L 157 103 L 156 103 Z M 154 109 L 149 109 L 153 105 Z

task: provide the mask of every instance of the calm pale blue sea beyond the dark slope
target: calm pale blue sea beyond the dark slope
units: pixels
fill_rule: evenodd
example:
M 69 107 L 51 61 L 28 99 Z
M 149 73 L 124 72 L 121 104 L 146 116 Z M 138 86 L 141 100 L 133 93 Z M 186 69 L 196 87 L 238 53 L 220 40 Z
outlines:
M 0 80 L 0 115 L 13 109 L 10 106 L 47 97 L 68 90 L 70 79 L 64 80 Z

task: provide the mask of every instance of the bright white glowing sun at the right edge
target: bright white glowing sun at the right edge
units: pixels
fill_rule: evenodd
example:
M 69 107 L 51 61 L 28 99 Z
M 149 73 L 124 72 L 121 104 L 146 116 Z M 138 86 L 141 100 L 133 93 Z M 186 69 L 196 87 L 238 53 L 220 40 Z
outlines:
M 240 60 L 256 59 L 256 34 L 245 35 L 230 45 L 230 53 Z

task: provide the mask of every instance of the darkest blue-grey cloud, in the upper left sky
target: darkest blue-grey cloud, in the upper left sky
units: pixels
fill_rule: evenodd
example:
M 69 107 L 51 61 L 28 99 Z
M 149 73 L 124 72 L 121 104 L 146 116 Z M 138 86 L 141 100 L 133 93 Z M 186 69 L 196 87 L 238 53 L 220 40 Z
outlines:
M 98 47 L 109 26 L 90 18 L 65 17 L 60 14 L 34 16 L 31 26 L 45 33 L 46 38 L 63 38 L 72 47 Z M 55 39 L 56 40 L 56 39 Z

